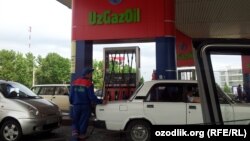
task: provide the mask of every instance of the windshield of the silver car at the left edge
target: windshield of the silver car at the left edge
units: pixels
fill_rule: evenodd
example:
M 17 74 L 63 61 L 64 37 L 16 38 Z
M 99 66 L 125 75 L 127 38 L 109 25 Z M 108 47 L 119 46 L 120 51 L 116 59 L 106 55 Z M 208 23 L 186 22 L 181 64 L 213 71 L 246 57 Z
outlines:
M 5 97 L 7 98 L 41 98 L 37 96 L 34 92 L 32 92 L 29 88 L 26 86 L 17 83 L 17 82 L 10 82 L 8 84 L 2 84 L 2 86 L 5 85 L 6 91 L 4 93 Z

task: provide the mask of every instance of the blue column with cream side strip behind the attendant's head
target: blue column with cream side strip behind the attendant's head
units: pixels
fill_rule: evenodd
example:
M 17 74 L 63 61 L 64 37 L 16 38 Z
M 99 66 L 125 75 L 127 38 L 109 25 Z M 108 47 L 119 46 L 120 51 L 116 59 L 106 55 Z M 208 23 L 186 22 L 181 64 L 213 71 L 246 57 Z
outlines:
M 93 42 L 72 41 L 71 50 L 71 82 L 82 75 L 84 67 L 92 67 Z

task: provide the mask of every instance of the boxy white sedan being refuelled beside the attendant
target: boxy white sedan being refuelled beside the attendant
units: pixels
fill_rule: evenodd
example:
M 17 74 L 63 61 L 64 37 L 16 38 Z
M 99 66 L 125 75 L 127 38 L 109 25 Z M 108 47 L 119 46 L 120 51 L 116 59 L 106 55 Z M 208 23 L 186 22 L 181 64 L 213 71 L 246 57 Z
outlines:
M 189 103 L 192 87 L 198 96 L 197 81 L 154 80 L 145 82 L 126 101 L 96 106 L 97 123 L 108 130 L 126 131 L 129 140 L 150 140 L 151 125 L 204 124 L 200 103 Z M 219 102 L 225 124 L 250 124 L 250 105 L 234 102 L 219 87 Z

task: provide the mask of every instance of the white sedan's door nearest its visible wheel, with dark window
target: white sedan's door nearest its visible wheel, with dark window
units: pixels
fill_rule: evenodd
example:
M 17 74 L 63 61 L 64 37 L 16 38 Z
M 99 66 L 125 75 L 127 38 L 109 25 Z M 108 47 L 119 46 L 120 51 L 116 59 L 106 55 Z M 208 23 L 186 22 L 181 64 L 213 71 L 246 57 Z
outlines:
M 186 124 L 186 103 L 181 84 L 158 83 L 148 92 L 143 109 L 155 125 Z

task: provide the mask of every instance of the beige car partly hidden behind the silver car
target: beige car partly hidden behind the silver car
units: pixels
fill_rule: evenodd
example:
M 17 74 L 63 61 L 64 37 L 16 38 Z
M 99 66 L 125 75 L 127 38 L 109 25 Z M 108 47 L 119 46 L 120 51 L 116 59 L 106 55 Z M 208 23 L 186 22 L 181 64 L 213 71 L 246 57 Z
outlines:
M 37 95 L 52 101 L 62 112 L 69 112 L 69 91 L 70 84 L 42 84 L 34 85 L 31 90 Z

